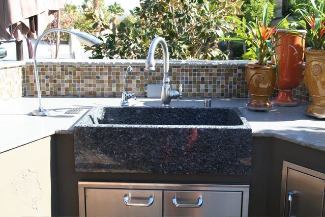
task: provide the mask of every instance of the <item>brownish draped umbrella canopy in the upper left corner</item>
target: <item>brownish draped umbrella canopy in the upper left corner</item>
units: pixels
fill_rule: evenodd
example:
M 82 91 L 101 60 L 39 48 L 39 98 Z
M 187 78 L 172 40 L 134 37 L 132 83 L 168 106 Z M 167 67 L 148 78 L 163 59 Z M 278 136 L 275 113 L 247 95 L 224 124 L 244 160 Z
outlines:
M 62 8 L 63 0 L 0 0 L 0 38 L 36 39 Z

